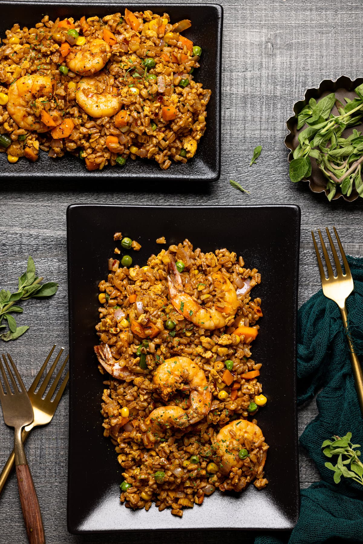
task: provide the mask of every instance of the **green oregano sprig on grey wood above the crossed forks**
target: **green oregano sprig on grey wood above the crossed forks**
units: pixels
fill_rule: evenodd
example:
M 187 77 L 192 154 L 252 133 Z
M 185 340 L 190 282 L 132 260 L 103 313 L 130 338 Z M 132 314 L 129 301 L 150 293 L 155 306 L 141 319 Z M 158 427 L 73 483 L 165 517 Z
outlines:
M 9 326 L 9 330 L 0 335 L 0 338 L 5 342 L 19 338 L 19 336 L 23 335 L 29 329 L 27 325 L 18 327 L 14 317 L 11 316 L 11 313 L 22 313 L 23 311 L 23 308 L 16 306 L 15 302 L 18 300 L 28 300 L 33 297 L 45 298 L 57 292 L 58 283 L 50 281 L 40 285 L 42 280 L 42 277 L 35 275 L 35 264 L 32 257 L 28 257 L 27 270 L 19 278 L 18 290 L 15 293 L 10 293 L 10 291 L 5 289 L 0 291 L 0 329 L 7 327 L 6 324 L 2 324 L 3 319 L 7 321 Z

